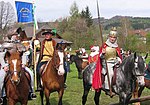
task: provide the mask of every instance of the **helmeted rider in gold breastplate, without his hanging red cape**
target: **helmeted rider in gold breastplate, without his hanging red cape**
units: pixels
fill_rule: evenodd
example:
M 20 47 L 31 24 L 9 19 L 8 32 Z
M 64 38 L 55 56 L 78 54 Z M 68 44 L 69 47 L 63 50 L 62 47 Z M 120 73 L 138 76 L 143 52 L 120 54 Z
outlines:
M 117 30 L 115 27 L 112 28 L 108 35 L 108 39 L 100 48 L 100 60 L 97 65 L 102 64 L 102 79 L 104 78 L 104 83 L 102 88 L 109 95 L 109 84 L 108 84 L 108 77 L 107 77 L 107 70 L 109 73 L 109 80 L 111 86 L 111 80 L 114 75 L 113 67 L 117 63 L 122 62 L 122 56 L 120 53 L 120 48 L 117 44 Z M 106 62 L 105 62 L 106 61 Z M 101 63 L 100 63 L 101 62 Z M 106 64 L 107 63 L 107 64 Z M 94 81 L 94 80 L 93 80 Z

